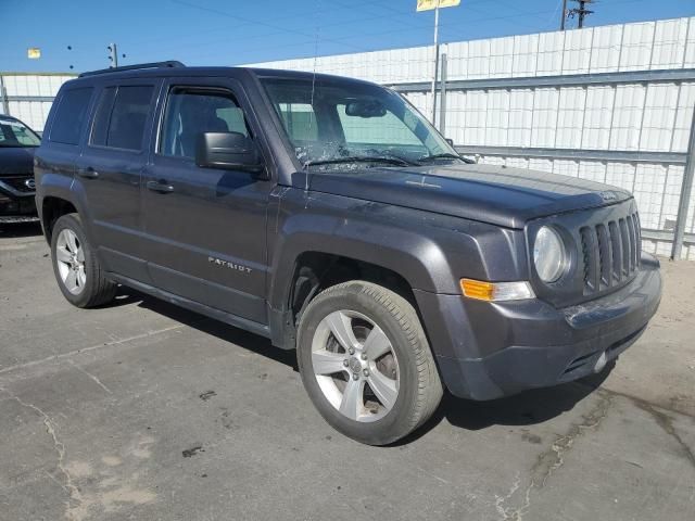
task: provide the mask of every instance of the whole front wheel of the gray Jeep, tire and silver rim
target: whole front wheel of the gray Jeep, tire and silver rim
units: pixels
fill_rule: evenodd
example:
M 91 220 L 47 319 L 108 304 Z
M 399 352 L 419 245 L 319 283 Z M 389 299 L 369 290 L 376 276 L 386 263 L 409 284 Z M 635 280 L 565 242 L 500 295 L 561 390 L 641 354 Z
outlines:
M 309 303 L 300 321 L 298 359 L 321 416 L 362 443 L 400 440 L 427 421 L 442 397 L 415 309 L 370 282 L 334 285 Z

